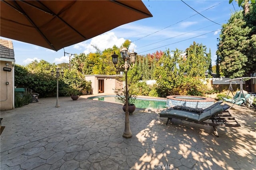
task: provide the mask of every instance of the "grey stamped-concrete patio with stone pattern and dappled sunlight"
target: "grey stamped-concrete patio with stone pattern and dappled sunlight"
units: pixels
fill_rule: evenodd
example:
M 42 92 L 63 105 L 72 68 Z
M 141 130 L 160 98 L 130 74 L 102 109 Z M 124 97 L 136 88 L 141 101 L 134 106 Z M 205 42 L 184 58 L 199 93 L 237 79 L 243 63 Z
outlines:
M 235 105 L 241 127 L 213 128 L 172 120 L 161 109 L 136 109 L 131 138 L 122 137 L 120 104 L 60 97 L 1 111 L 1 170 L 256 169 L 256 113 Z

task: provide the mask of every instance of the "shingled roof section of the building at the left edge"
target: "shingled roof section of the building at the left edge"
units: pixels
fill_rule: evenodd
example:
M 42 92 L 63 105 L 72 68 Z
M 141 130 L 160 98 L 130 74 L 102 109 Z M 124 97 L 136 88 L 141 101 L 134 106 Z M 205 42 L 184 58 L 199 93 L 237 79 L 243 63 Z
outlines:
M 12 41 L 0 39 L 0 58 L 14 59 Z

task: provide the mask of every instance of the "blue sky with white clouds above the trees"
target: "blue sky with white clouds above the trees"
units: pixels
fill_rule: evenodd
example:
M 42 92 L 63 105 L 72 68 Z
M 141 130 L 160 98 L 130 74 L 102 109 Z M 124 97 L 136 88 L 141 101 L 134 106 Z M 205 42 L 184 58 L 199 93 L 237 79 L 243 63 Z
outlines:
M 184 51 L 195 41 L 206 45 L 207 52 L 211 49 L 212 65 L 216 60 L 216 44 L 221 25 L 227 23 L 230 15 L 239 10 L 237 3 L 217 0 L 186 0 L 195 12 L 180 0 L 143 0 L 145 6 L 153 15 L 110 30 L 90 40 L 65 47 L 68 53 L 89 53 L 96 50 L 92 45 L 104 50 L 113 45 L 118 47 L 124 40 L 132 42 L 130 50 L 138 54 L 148 54 L 166 49 L 176 48 Z M 218 24 L 216 24 L 218 23 Z M 10 40 L 3 38 L 5 40 Z M 64 56 L 64 50 L 53 51 L 37 45 L 12 40 L 17 64 L 26 65 L 37 59 L 50 63 L 68 63 L 69 57 Z

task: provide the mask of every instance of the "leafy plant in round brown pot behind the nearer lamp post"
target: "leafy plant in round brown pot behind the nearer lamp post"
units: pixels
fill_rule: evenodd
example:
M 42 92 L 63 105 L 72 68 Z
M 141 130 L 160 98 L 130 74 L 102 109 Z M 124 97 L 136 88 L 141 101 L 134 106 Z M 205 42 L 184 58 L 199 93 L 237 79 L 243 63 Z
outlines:
M 126 96 L 125 96 L 125 89 L 114 89 L 114 93 L 116 93 L 116 99 L 123 103 L 123 111 L 126 111 Z M 131 90 L 128 90 L 128 111 L 129 114 L 131 115 L 135 109 L 136 106 L 134 105 L 135 100 L 136 100 L 136 95 L 133 94 Z

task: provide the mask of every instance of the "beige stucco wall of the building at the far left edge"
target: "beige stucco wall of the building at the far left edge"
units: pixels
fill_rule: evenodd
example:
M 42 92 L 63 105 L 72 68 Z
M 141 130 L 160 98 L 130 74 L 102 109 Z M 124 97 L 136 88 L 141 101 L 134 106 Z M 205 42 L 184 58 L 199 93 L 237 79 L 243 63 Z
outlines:
M 3 68 L 7 67 L 6 63 L 8 63 L 8 67 L 12 68 L 12 71 L 14 71 L 12 67 L 11 61 L 0 61 L 0 110 L 11 110 L 13 109 L 13 73 L 12 71 L 4 71 Z M 6 85 L 6 82 L 9 84 Z

